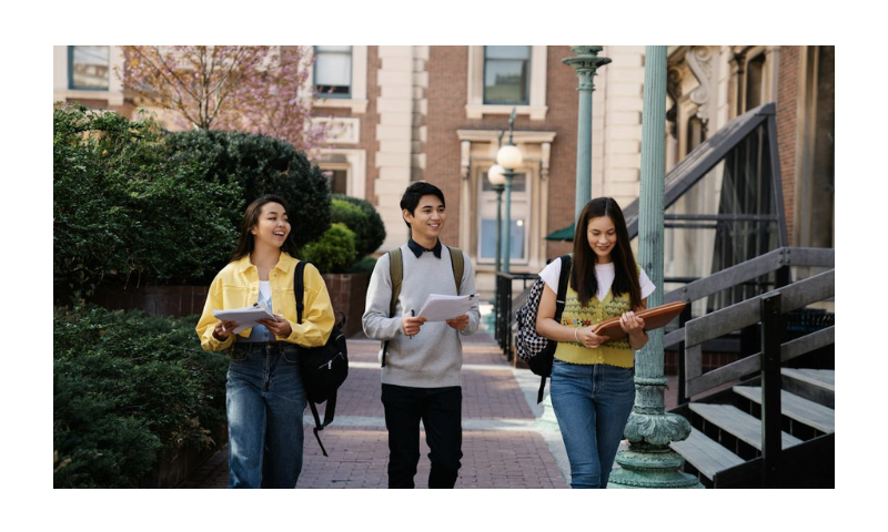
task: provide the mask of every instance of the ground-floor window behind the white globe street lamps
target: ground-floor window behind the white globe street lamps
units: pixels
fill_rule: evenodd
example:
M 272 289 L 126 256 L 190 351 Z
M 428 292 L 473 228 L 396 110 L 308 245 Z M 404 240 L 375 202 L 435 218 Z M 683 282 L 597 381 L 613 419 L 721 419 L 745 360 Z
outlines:
M 487 170 L 484 168 L 478 182 L 478 249 L 477 258 L 482 264 L 494 264 L 496 260 L 496 192 L 487 181 Z M 515 174 L 512 178 L 512 227 L 509 229 L 508 254 L 512 263 L 527 264 L 529 245 L 529 194 L 527 191 L 527 174 Z M 505 202 L 505 193 L 503 193 Z M 505 204 L 502 206 L 502 216 L 505 216 Z M 505 238 L 505 234 L 501 238 Z

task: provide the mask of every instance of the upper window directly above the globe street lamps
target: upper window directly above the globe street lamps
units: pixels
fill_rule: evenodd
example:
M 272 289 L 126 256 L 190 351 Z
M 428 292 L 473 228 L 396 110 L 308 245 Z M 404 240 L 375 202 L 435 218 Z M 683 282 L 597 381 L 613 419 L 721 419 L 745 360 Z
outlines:
M 531 102 L 531 47 L 484 47 L 484 103 Z

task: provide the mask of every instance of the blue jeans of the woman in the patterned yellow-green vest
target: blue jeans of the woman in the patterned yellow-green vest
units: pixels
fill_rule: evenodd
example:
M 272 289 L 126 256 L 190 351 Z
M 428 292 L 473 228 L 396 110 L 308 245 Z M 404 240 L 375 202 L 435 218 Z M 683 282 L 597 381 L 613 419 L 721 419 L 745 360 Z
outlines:
M 571 488 L 607 488 L 635 402 L 633 368 L 555 359 L 552 407 L 571 462 Z

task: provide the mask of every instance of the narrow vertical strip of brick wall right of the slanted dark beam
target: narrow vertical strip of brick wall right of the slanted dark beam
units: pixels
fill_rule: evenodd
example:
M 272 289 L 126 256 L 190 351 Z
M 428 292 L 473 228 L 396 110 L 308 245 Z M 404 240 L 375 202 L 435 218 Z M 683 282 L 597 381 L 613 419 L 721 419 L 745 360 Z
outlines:
M 801 61 L 800 47 L 781 47 L 777 80 L 777 144 L 780 151 L 780 178 L 784 188 L 784 212 L 789 245 L 794 243 L 796 206 L 796 142 L 798 139 L 798 98 Z

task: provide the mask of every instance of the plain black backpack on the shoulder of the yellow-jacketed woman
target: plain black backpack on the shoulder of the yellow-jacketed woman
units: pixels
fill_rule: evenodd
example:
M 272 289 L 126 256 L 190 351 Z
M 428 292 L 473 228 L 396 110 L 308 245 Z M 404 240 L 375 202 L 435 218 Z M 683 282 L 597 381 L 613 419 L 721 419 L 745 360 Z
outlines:
M 300 260 L 296 265 L 295 278 L 293 279 L 293 291 L 296 297 L 296 316 L 299 321 L 302 323 L 302 311 L 305 309 L 303 301 L 305 295 L 304 275 L 305 260 Z M 299 347 L 299 365 L 302 372 L 302 383 L 305 388 L 305 395 L 309 398 L 309 407 L 312 409 L 314 416 L 314 437 L 317 439 L 317 444 L 321 446 L 321 451 L 326 457 L 326 449 L 321 443 L 321 437 L 317 434 L 319 430 L 324 430 L 324 427 L 333 422 L 333 416 L 336 413 L 336 390 L 345 381 L 349 376 L 349 350 L 345 346 L 345 335 L 342 332 L 342 327 L 345 325 L 345 316 L 333 325 L 333 330 L 330 332 L 330 338 L 323 347 Z M 321 422 L 321 417 L 317 415 L 317 407 L 326 401 L 326 409 L 324 410 L 324 422 Z

